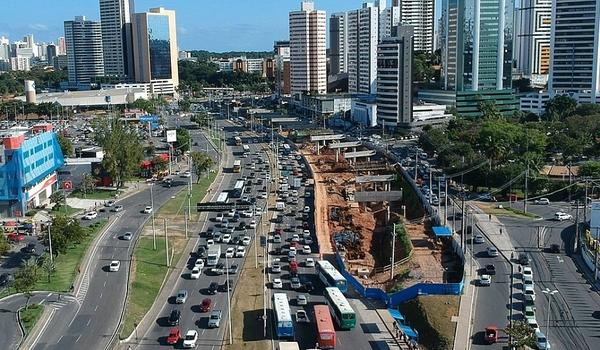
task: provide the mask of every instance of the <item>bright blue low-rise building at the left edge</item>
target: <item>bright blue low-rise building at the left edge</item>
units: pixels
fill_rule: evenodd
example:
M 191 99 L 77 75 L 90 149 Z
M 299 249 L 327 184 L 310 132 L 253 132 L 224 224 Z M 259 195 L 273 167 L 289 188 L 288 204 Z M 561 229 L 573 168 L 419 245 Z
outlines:
M 51 124 L 0 133 L 0 217 L 20 217 L 49 203 L 64 158 Z

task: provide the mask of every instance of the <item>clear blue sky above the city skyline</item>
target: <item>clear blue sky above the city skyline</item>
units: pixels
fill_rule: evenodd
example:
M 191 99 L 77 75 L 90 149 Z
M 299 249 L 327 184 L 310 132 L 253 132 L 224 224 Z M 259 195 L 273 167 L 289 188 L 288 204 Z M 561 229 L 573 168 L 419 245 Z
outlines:
M 99 20 L 98 0 L 3 0 L 0 36 L 11 41 L 33 34 L 36 42 L 64 35 L 63 22 L 75 16 Z M 363 0 L 315 0 L 331 13 L 360 8 Z M 372 0 L 374 2 L 374 0 Z M 388 0 L 388 6 L 391 0 Z M 273 41 L 288 38 L 288 13 L 300 0 L 136 0 L 135 11 L 175 10 L 181 50 L 271 51 Z

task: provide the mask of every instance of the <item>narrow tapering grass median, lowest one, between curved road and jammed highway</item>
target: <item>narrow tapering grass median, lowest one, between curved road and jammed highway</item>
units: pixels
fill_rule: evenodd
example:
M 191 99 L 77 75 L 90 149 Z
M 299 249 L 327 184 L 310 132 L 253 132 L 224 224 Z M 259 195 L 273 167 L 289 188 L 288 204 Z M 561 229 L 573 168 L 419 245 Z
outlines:
M 169 245 L 174 247 L 172 265 L 176 265 L 185 246 L 185 239 L 172 238 Z M 133 275 L 129 288 L 129 298 L 125 310 L 125 320 L 121 330 L 121 339 L 133 332 L 135 323 L 139 323 L 150 310 L 156 299 L 163 280 L 168 272 L 165 265 L 165 239 L 156 238 L 156 250 L 153 249 L 152 237 L 140 237 L 133 257 Z

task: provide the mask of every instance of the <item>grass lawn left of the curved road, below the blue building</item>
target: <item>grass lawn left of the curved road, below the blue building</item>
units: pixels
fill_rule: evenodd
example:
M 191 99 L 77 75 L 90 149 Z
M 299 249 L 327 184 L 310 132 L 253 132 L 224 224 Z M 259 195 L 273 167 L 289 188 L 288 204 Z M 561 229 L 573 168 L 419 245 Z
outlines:
M 77 275 L 81 259 L 106 223 L 107 220 L 104 219 L 98 221 L 94 226 L 90 226 L 88 228 L 90 234 L 80 244 L 70 247 L 66 254 L 57 256 L 54 259 L 55 271 L 51 275 L 50 281 L 48 281 L 47 275 L 42 270 L 34 290 L 68 292 Z

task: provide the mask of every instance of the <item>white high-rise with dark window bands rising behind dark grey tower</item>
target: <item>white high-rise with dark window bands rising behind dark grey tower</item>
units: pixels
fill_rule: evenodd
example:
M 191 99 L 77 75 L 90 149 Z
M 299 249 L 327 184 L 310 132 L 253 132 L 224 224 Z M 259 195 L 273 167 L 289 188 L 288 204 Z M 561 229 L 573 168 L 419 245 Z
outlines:
M 415 51 L 433 52 L 434 0 L 393 0 L 400 9 L 400 23 L 415 29 Z

